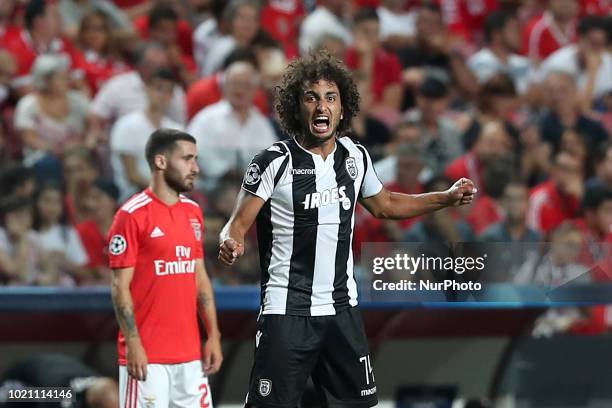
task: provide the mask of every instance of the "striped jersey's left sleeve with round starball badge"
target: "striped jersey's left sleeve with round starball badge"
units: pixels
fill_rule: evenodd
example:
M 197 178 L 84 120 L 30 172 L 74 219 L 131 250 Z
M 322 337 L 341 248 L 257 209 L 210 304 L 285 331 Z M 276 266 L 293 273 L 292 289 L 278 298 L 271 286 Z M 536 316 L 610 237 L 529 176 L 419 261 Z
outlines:
M 278 176 L 286 168 L 287 154 L 286 148 L 276 143 L 257 154 L 244 174 L 242 188 L 268 201 L 272 196 Z

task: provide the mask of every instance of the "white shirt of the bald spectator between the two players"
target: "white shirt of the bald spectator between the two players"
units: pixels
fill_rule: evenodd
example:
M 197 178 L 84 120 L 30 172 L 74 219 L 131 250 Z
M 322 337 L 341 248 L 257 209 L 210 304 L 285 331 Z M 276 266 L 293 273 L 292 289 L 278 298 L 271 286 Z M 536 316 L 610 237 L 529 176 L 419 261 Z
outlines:
M 201 110 L 187 131 L 198 141 L 198 162 L 204 178 L 217 178 L 227 171 L 243 171 L 259 151 L 277 141 L 270 121 L 256 108 L 240 123 L 227 100 Z

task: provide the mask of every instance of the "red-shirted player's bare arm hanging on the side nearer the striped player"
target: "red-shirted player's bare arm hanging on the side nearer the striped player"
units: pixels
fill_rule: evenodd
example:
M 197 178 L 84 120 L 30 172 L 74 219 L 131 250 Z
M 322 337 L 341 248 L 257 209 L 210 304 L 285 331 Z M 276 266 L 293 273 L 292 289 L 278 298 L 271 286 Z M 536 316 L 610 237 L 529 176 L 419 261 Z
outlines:
M 198 285 L 198 313 L 206 329 L 206 343 L 202 350 L 202 368 L 207 375 L 210 375 L 221 368 L 223 352 L 214 290 L 201 258 L 196 260 L 196 282 Z

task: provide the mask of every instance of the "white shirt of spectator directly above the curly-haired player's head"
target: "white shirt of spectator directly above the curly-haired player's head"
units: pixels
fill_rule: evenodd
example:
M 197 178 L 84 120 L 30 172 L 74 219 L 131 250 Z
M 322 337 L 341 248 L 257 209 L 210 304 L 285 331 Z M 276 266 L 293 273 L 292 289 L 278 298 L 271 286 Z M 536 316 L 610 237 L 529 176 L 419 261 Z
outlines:
M 353 41 L 351 31 L 334 13 L 319 6 L 302 22 L 300 28 L 300 52 L 305 55 L 325 36 L 338 37 L 346 45 Z

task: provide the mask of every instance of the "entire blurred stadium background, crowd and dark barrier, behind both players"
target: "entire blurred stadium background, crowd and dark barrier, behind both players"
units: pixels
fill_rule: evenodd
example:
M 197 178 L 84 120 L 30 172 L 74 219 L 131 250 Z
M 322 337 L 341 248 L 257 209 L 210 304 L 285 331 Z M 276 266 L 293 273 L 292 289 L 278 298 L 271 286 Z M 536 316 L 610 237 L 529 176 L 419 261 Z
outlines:
M 349 136 L 390 189 L 462 176 L 479 188 L 469 208 L 420 219 L 359 209 L 357 261 L 369 242 L 544 242 L 552 269 L 525 278 L 502 262 L 497 279 L 519 294 L 583 290 L 555 307 L 362 302 L 380 406 L 612 406 L 611 14 L 607 0 L 1 0 L 0 381 L 43 354 L 116 377 L 104 237 L 148 183 L 147 136 L 180 127 L 198 138 L 191 197 L 224 337 L 213 396 L 239 406 L 255 234 L 231 270 L 217 236 L 246 164 L 286 137 L 273 102 L 283 70 L 324 48 L 354 71 Z M 317 404 L 308 392 L 303 405 Z

